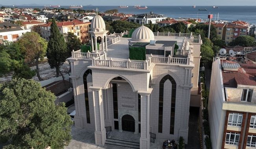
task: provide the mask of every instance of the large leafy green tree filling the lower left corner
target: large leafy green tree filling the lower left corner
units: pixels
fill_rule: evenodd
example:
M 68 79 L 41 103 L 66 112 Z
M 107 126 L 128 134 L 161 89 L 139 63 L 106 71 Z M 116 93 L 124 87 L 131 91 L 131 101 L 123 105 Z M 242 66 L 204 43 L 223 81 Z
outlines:
M 71 140 L 72 121 L 65 103 L 33 80 L 0 84 L 0 139 L 4 149 L 62 149 Z

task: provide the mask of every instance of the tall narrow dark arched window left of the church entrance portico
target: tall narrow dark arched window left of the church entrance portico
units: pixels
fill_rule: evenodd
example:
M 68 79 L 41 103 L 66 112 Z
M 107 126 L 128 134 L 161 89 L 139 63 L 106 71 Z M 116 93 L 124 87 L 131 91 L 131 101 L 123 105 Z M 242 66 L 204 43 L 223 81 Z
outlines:
M 86 110 L 86 121 L 91 123 L 90 120 L 90 109 L 89 109 L 89 99 L 88 99 L 88 88 L 87 88 L 87 75 L 92 74 L 91 69 L 88 69 L 83 74 L 83 88 L 84 88 L 84 97 L 85 97 L 85 110 Z

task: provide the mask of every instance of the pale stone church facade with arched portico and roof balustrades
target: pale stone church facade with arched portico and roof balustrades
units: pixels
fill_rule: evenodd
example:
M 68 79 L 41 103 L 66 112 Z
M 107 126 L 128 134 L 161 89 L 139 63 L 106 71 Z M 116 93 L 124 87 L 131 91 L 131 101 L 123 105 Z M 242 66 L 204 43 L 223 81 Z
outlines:
M 91 33 L 95 35 L 96 32 Z M 102 34 L 105 35 L 105 32 Z M 105 143 L 105 127 L 122 132 L 122 118 L 126 114 L 134 119 L 133 132 L 140 135 L 141 149 L 150 148 L 149 132 L 163 139 L 178 140 L 183 136 L 187 142 L 191 88 L 197 88 L 197 80 L 193 84 L 192 72 L 195 72 L 194 77 L 198 79 L 199 67 L 195 65 L 199 65 L 200 61 L 200 58 L 194 59 L 191 49 L 195 44 L 193 52 L 200 55 L 202 40 L 194 39 L 190 34 L 180 37 L 167 35 L 155 39 L 177 40 L 180 46 L 178 51 L 187 58 L 150 55 L 145 61 L 126 59 L 129 56 L 126 55 L 128 40 L 122 37 L 115 37 L 115 42 L 120 41 L 117 44 L 111 43 L 108 50 L 103 47 L 96 53 L 81 53 L 80 50 L 72 52 L 69 61 L 76 107 L 75 126 L 94 129 L 96 144 Z M 187 51 L 184 50 L 185 41 L 191 45 Z M 165 81 L 163 78 L 168 79 Z M 87 85 L 84 85 L 84 81 Z M 117 86 L 117 91 L 113 85 Z M 161 109 L 160 94 L 163 96 Z M 87 97 L 89 105 L 86 105 Z M 116 107 L 118 110 L 115 110 Z M 115 127 L 117 123 L 118 127 Z M 160 124 L 161 132 L 158 130 Z

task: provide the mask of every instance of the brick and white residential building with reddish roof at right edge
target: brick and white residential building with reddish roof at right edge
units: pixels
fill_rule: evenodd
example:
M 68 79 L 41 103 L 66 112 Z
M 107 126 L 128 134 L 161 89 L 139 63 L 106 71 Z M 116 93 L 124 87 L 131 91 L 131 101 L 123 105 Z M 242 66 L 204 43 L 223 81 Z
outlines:
M 208 102 L 213 149 L 256 148 L 256 64 L 216 58 Z

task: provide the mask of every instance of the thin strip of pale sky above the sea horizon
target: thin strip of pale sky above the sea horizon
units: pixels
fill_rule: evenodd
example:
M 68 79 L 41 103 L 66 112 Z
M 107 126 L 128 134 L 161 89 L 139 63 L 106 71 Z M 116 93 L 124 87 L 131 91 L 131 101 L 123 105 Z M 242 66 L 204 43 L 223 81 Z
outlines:
M 255 0 L 0 0 L 0 5 L 94 5 L 94 6 L 256 6 Z

